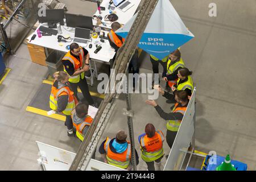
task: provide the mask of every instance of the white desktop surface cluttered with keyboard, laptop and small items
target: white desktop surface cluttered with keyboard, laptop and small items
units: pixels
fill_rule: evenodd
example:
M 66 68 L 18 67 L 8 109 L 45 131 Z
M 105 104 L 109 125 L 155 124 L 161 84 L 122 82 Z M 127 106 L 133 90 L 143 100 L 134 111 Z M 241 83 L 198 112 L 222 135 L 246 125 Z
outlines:
M 41 25 L 47 27 L 46 24 L 40 24 L 39 27 Z M 71 29 L 70 27 L 65 27 L 65 28 L 67 30 Z M 74 38 L 74 36 L 75 36 L 74 32 L 65 30 L 63 28 L 63 26 L 61 26 L 61 30 L 62 30 L 62 34 L 61 34 L 62 36 L 64 36 L 64 37 L 71 36 L 72 39 Z M 36 38 L 34 40 L 31 40 L 31 42 L 30 42 L 31 37 L 34 34 L 36 34 Z M 42 36 L 41 38 L 39 38 L 37 32 L 35 31 L 33 34 L 28 36 L 27 40 L 28 40 L 28 43 L 30 43 L 30 44 L 35 44 L 37 46 L 51 48 L 51 49 L 55 49 L 58 51 L 68 52 L 69 50 L 66 49 L 66 46 L 70 45 L 73 42 L 73 40 L 72 40 L 72 42 L 60 42 L 61 44 L 63 44 L 63 46 L 60 46 L 59 45 L 60 43 L 57 42 L 58 35 L 59 34 L 52 35 L 52 36 Z M 106 35 L 108 35 L 108 32 L 105 31 L 105 36 Z M 86 44 L 82 44 L 82 43 L 78 43 L 78 44 L 81 47 L 85 47 L 86 50 L 88 50 L 91 59 L 100 60 L 100 61 L 109 63 L 110 59 L 113 59 L 113 57 L 115 55 L 115 50 L 110 46 L 108 40 L 106 40 L 106 39 L 104 39 L 104 40 L 105 40 L 105 43 L 102 43 L 102 42 L 100 42 L 100 38 L 98 37 L 97 39 L 92 38 L 92 42 L 89 42 L 87 44 L 87 46 L 86 46 Z M 67 39 L 67 41 L 71 41 L 71 39 Z M 98 41 L 102 47 L 102 49 L 98 53 L 94 53 L 94 51 L 96 50 L 96 45 L 94 43 L 96 41 Z M 92 48 L 89 48 L 89 44 L 92 44 Z

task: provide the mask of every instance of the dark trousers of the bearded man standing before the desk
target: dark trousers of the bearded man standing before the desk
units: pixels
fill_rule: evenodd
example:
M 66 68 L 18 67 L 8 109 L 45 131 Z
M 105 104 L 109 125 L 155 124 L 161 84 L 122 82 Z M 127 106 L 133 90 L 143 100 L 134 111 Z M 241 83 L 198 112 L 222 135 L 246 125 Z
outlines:
M 79 88 L 82 91 L 82 95 L 84 96 L 85 101 L 89 104 L 89 105 L 93 105 L 93 99 L 92 96 L 90 96 L 90 92 L 89 92 L 89 88 L 88 88 L 88 84 L 86 81 L 86 78 L 84 78 L 83 80 L 80 79 L 80 81 L 76 84 L 69 82 L 72 88 L 72 91 L 74 92 L 77 100 L 79 100 L 79 98 L 77 97 L 77 86 L 79 86 Z

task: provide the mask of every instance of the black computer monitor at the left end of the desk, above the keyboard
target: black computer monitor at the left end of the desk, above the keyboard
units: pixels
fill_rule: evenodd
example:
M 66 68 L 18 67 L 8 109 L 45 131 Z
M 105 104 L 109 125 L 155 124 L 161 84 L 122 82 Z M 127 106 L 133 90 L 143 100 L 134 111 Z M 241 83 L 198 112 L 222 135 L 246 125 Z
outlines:
M 63 9 L 46 10 L 46 16 L 38 16 L 40 23 L 55 24 L 60 23 L 64 25 L 65 14 Z

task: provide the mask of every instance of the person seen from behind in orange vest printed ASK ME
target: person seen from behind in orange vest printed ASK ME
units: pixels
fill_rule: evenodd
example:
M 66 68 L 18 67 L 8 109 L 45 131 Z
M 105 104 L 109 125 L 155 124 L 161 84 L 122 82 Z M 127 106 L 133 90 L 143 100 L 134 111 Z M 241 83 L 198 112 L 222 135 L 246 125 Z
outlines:
M 160 171 L 161 159 L 163 158 L 163 141 L 162 131 L 155 131 L 155 126 L 147 123 L 145 133 L 139 135 L 139 144 L 141 144 L 141 158 L 146 162 L 148 171 Z

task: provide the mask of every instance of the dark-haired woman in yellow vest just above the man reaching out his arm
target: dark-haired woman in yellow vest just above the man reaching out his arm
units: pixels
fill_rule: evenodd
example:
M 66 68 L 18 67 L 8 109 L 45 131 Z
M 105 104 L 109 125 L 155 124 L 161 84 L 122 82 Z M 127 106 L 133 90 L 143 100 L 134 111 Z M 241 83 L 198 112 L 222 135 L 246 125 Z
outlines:
M 172 92 L 175 94 L 176 90 L 185 90 L 188 93 L 188 96 L 191 96 L 194 89 L 191 75 L 192 71 L 189 71 L 188 68 L 179 69 L 177 73 L 179 79 L 177 80 L 177 84 L 172 86 Z

